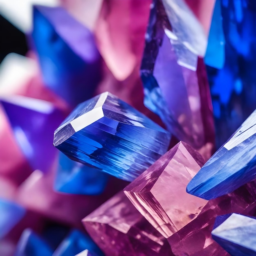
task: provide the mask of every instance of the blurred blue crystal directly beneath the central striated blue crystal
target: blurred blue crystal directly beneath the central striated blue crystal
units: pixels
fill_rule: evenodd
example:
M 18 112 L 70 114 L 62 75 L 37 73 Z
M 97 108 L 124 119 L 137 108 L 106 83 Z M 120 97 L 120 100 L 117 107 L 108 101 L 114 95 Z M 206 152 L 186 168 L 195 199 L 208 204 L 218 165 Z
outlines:
M 104 191 L 108 179 L 109 175 L 100 169 L 75 162 L 60 153 L 54 189 L 71 194 L 98 195 Z

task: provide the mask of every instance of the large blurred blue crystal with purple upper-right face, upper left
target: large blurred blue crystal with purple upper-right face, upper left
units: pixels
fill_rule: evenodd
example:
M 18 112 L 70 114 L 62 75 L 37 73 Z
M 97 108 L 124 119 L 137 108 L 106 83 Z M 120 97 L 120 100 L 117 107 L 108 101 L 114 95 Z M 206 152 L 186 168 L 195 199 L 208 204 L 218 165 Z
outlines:
M 92 97 L 101 57 L 92 32 L 61 7 L 34 7 L 32 38 L 45 85 L 70 105 Z

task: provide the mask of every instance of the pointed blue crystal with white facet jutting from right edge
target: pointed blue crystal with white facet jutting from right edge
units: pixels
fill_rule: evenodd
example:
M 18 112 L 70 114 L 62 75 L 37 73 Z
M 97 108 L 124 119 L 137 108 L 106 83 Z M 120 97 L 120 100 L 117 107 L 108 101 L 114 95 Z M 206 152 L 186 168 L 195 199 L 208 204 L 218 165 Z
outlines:
M 225 195 L 256 177 L 256 110 L 189 182 L 187 192 L 204 199 Z

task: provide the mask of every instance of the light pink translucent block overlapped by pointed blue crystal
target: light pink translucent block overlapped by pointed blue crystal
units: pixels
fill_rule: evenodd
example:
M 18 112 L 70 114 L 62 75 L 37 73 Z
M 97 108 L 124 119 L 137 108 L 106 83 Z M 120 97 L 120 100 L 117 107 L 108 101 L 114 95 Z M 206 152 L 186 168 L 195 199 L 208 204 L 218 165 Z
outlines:
M 181 141 L 130 183 L 124 193 L 168 238 L 196 218 L 208 202 L 186 193 L 187 183 L 203 164 L 202 156 Z

